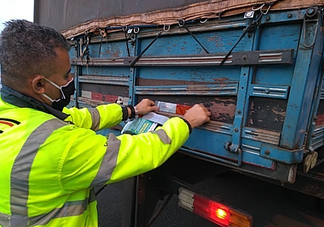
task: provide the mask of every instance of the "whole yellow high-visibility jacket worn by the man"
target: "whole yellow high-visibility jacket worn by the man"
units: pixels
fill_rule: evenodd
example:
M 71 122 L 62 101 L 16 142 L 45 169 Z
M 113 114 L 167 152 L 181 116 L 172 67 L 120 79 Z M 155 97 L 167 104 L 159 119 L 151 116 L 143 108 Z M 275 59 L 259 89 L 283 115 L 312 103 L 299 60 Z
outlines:
M 106 138 L 95 130 L 111 127 L 123 119 L 125 111 L 117 104 L 81 110 L 65 108 L 67 117 L 59 119 L 46 110 L 37 110 L 39 105 L 46 105 L 31 98 L 26 101 L 23 95 L 9 90 L 19 104 L 5 102 L 8 94 L 2 90 L 2 227 L 98 226 L 93 187 L 158 167 L 189 136 L 187 123 L 171 118 L 152 132 L 118 137 L 111 133 Z M 23 107 L 22 103 L 30 100 L 33 104 Z

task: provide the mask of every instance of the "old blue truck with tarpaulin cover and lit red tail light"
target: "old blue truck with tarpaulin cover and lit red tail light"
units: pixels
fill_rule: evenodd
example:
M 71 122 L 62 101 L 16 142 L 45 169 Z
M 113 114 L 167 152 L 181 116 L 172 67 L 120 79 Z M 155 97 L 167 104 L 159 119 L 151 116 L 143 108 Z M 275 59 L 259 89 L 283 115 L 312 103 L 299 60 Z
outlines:
M 71 44 L 70 106 L 148 98 L 172 109 L 158 112 L 167 117 L 196 103 L 212 113 L 163 166 L 117 186 L 125 227 L 151 225 L 172 195 L 220 226 L 252 226 L 253 214 L 195 188 L 224 171 L 323 208 L 323 17 L 322 0 L 34 1 L 34 22 Z

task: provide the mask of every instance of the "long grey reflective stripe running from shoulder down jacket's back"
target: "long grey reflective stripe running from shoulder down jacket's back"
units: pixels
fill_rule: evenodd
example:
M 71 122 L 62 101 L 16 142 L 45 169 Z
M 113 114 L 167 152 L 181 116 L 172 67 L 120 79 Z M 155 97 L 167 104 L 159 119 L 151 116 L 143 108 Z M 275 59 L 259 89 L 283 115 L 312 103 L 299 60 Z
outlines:
M 28 224 L 27 219 L 27 200 L 29 193 L 29 174 L 32 163 L 39 147 L 45 143 L 52 132 L 67 123 L 57 118 L 45 121 L 39 125 L 27 138 L 19 154 L 17 155 L 11 171 L 10 178 L 10 204 L 11 213 L 23 221 L 18 221 L 22 226 Z M 15 219 L 15 218 L 14 218 Z

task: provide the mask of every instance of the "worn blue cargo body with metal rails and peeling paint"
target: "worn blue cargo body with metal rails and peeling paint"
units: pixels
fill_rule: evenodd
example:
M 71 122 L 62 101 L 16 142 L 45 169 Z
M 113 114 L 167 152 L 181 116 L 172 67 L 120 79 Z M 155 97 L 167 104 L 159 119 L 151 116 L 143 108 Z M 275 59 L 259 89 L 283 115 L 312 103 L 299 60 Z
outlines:
M 306 14 L 269 12 L 222 66 L 255 19 L 239 15 L 76 36 L 70 58 L 77 92 L 70 106 L 144 98 L 202 103 L 211 121 L 193 130 L 182 152 L 294 183 L 297 164 L 324 144 L 323 15 Z M 120 133 L 124 124 L 99 133 Z

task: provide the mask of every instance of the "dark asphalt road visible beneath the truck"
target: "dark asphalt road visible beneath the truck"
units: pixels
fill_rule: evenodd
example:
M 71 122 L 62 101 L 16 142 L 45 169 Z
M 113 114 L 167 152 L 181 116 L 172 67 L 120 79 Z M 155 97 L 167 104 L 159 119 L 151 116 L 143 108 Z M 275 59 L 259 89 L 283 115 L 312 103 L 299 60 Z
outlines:
M 237 177 L 239 176 L 239 177 Z M 218 195 L 223 202 L 248 211 L 255 227 L 324 227 L 324 214 L 315 198 L 280 186 L 227 172 L 196 185 Z M 100 227 L 121 227 L 123 193 L 108 186 L 98 196 Z M 152 227 L 215 227 L 217 225 L 178 207 L 174 195 Z

